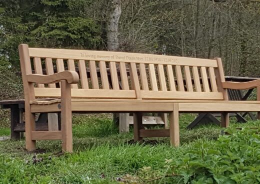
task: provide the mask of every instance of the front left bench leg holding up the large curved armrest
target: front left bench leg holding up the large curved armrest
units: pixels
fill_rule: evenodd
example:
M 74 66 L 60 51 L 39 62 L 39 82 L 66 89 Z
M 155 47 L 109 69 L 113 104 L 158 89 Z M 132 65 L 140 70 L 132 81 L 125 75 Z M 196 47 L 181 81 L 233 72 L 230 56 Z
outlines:
M 65 80 L 61 81 L 61 89 L 62 152 L 72 153 L 71 89 Z

